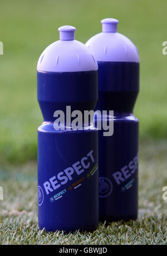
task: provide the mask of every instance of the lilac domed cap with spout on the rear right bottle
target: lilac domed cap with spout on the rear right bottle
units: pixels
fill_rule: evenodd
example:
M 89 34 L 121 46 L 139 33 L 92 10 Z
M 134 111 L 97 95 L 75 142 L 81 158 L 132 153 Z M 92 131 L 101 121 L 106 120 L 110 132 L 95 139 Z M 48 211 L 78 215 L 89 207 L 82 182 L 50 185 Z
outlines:
M 139 62 L 136 46 L 117 32 L 118 20 L 105 18 L 101 21 L 102 32 L 91 37 L 86 46 L 97 61 Z

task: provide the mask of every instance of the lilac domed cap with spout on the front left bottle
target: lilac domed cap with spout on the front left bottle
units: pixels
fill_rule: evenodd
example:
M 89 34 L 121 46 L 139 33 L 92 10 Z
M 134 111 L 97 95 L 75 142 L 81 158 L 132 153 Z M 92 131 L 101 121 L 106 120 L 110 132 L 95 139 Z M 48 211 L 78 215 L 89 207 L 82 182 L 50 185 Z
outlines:
M 62 26 L 60 40 L 46 47 L 38 60 L 37 70 L 81 72 L 97 70 L 97 61 L 86 45 L 74 39 L 75 27 Z

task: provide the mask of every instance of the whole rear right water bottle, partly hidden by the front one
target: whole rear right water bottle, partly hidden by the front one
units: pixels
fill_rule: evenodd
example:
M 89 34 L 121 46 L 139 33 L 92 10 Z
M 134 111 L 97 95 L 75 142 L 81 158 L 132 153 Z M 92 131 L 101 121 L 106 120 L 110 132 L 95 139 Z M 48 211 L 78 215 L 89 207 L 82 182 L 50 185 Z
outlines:
M 98 63 L 97 109 L 114 110 L 114 134 L 105 137 L 99 131 L 100 220 L 135 220 L 139 122 L 132 111 L 139 92 L 139 55 L 129 38 L 117 33 L 119 21 L 101 23 L 102 32 L 86 43 Z

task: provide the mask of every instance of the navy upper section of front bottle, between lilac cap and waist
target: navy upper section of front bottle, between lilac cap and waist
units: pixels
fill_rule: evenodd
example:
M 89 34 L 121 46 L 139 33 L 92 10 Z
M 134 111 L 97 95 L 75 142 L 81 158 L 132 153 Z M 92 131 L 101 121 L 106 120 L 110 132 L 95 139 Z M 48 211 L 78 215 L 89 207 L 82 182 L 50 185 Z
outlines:
M 53 122 L 53 114 L 66 106 L 73 110 L 95 109 L 98 99 L 97 71 L 37 72 L 37 95 L 43 119 Z

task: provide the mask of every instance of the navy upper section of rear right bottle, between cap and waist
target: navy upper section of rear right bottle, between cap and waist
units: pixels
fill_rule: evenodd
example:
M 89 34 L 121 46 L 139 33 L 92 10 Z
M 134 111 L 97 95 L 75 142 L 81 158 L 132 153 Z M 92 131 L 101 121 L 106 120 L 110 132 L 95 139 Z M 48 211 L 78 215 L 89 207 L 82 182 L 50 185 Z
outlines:
M 99 100 L 96 109 L 132 113 L 139 93 L 139 63 L 98 62 Z

